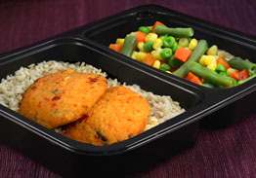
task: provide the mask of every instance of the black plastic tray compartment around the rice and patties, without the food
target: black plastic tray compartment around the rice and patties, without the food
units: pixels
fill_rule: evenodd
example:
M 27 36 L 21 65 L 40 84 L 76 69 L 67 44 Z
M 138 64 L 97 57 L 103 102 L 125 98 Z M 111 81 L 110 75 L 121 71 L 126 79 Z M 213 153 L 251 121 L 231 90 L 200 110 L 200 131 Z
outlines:
M 198 89 L 179 86 L 176 81 L 165 81 L 138 66 L 124 63 L 118 58 L 102 53 L 83 40 L 63 38 L 35 45 L 24 53 L 12 53 L 0 59 L 0 78 L 13 74 L 21 66 L 44 60 L 86 62 L 106 71 L 109 77 L 127 84 L 138 84 L 156 94 L 170 94 L 188 112 L 129 140 L 105 147 L 82 144 L 37 125 L 18 113 L 0 105 L 0 142 L 19 150 L 29 158 L 41 162 L 63 176 L 81 176 L 101 166 L 105 172 L 120 170 L 132 172 L 136 166 L 131 160 L 142 160 L 142 167 L 149 168 L 157 160 L 164 160 L 192 146 L 196 140 L 198 122 L 196 108 L 203 100 Z M 155 153 L 158 153 L 155 155 Z M 42 157 L 43 155 L 43 157 Z M 145 160 L 143 158 L 149 158 Z M 85 168 L 85 165 L 88 165 Z M 95 168 L 97 167 L 97 168 Z M 123 169 L 124 168 L 124 169 Z

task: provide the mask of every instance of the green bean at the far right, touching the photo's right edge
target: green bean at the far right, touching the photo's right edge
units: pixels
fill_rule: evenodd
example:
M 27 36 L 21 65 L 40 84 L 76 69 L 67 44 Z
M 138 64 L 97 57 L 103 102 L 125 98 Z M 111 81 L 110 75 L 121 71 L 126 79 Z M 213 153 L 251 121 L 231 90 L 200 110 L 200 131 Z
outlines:
M 235 56 L 228 61 L 229 64 L 238 70 L 247 69 L 247 70 L 256 70 L 256 64 L 250 62 L 248 59 L 243 60 L 242 58 Z

